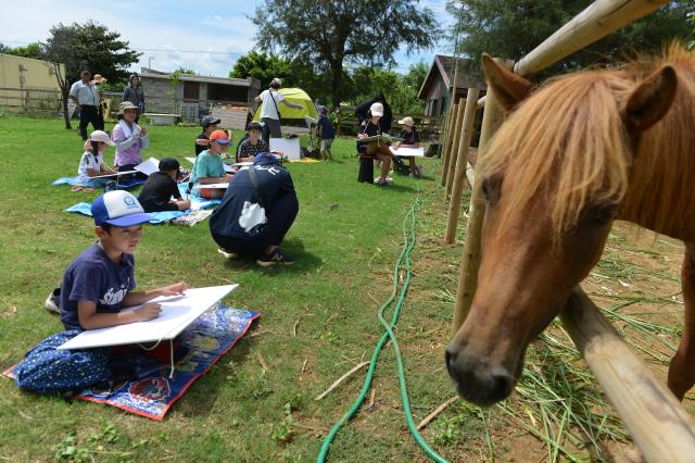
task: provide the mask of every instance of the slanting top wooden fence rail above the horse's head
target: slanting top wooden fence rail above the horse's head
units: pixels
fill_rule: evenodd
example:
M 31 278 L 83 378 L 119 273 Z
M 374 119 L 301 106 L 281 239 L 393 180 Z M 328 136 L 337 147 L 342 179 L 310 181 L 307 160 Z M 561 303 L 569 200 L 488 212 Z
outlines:
M 669 0 L 596 0 L 519 60 L 514 72 L 522 76 L 535 74 L 668 2 Z

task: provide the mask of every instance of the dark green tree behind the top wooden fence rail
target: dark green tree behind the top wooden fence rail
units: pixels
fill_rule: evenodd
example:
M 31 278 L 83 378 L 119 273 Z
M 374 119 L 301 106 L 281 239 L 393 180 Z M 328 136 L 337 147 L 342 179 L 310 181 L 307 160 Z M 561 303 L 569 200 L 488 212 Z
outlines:
M 518 60 L 585 8 L 585 1 L 577 0 L 446 2 L 447 11 L 455 17 L 450 38 L 452 41 L 459 38 L 459 53 L 471 58 L 467 67 L 478 76 L 483 51 Z M 658 52 L 665 42 L 674 38 L 686 39 L 690 33 L 686 13 L 692 10 L 692 2 L 667 3 L 648 16 L 571 54 L 543 74 L 624 59 L 635 50 Z

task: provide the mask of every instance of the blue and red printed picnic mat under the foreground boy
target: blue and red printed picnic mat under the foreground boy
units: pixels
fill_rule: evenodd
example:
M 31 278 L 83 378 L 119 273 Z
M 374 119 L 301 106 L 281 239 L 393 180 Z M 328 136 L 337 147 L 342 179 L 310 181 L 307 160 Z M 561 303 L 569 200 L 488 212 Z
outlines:
M 219 304 L 201 315 L 177 338 L 191 351 L 176 364 L 173 379 L 168 377 L 168 364 L 143 358 L 137 365 L 141 372 L 137 379 L 114 385 L 110 390 L 85 389 L 75 397 L 160 422 L 189 386 L 247 334 L 258 316 L 258 312 Z M 142 372 L 143 368 L 149 371 Z M 3 375 L 14 379 L 13 370 L 14 366 L 10 367 Z

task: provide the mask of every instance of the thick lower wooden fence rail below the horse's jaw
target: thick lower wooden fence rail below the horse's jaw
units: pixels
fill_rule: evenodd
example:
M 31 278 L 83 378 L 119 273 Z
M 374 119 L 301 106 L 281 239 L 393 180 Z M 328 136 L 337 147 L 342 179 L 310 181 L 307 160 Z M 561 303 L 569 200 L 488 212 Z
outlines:
M 645 460 L 692 462 L 695 422 L 580 287 L 570 293 L 560 316 Z

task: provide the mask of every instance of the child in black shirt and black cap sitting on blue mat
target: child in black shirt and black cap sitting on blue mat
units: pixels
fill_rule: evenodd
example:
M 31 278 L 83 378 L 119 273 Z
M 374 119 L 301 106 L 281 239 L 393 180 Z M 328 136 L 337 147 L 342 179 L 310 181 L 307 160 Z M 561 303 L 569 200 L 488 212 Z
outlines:
M 160 172 L 150 175 L 138 198 L 144 212 L 186 211 L 191 207 L 189 200 L 181 198 L 176 183 L 179 168 L 180 164 L 174 158 L 160 161 Z

